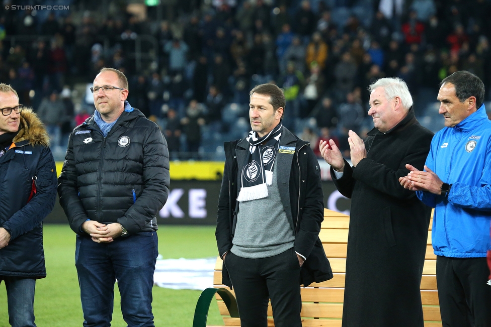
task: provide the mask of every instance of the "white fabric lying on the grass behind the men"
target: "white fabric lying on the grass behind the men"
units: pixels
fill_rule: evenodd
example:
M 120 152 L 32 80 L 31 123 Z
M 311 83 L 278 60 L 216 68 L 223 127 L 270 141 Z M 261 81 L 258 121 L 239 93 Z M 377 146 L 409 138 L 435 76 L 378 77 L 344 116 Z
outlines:
M 153 282 L 159 287 L 204 290 L 213 287 L 216 257 L 206 259 L 158 259 Z

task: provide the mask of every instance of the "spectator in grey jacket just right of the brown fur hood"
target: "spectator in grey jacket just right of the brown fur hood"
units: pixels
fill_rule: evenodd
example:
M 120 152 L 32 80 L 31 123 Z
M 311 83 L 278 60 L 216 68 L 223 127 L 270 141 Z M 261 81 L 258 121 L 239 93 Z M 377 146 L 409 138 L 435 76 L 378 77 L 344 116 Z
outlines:
M 61 150 L 61 126 L 66 121 L 66 112 L 63 102 L 58 97 L 58 92 L 53 90 L 49 97 L 45 97 L 38 108 L 38 116 L 46 125 L 50 148 L 53 151 Z

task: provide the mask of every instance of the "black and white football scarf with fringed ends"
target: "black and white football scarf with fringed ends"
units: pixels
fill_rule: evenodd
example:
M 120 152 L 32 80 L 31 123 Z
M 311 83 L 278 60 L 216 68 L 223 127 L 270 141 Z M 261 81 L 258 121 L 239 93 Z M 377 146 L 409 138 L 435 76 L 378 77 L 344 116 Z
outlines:
M 241 172 L 241 187 L 237 201 L 250 201 L 268 197 L 268 185 L 273 183 L 273 166 L 278 153 L 283 124 L 278 124 L 268 135 L 258 138 L 251 131 L 246 140 L 249 142 L 249 155 Z M 259 146 L 265 143 L 264 146 Z

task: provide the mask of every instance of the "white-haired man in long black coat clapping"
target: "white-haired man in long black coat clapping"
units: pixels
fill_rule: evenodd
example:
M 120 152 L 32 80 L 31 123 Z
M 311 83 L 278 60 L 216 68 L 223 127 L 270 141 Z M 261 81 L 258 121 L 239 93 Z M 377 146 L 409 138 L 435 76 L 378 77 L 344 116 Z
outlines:
M 423 327 L 420 282 L 430 208 L 398 178 L 422 168 L 433 133 L 416 120 L 399 78 L 369 86 L 374 128 L 364 142 L 349 132 L 352 165 L 333 140 L 320 141 L 341 194 L 351 198 L 343 327 Z

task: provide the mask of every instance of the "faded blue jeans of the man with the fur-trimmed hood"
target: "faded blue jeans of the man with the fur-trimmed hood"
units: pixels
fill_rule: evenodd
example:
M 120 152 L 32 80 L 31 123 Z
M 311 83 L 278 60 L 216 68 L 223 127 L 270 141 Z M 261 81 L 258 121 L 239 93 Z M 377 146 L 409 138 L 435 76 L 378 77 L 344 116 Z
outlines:
M 9 305 L 9 323 L 12 327 L 36 327 L 34 323 L 34 288 L 36 280 L 0 276 L 5 282 L 7 303 Z

